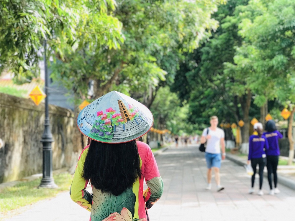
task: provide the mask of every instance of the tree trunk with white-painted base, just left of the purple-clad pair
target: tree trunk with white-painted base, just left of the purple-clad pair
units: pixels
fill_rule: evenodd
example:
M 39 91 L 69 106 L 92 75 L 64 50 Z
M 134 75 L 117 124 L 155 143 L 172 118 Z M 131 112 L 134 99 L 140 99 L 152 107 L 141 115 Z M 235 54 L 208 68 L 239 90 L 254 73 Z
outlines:
M 251 99 L 252 99 L 252 94 L 249 89 L 248 89 L 248 93 L 246 96 L 247 96 L 246 102 L 241 104 L 244 109 L 243 121 L 245 123 L 245 125 L 242 127 L 241 152 L 248 154 L 248 152 L 249 152 L 249 131 L 250 131 L 249 111 L 250 111 Z

